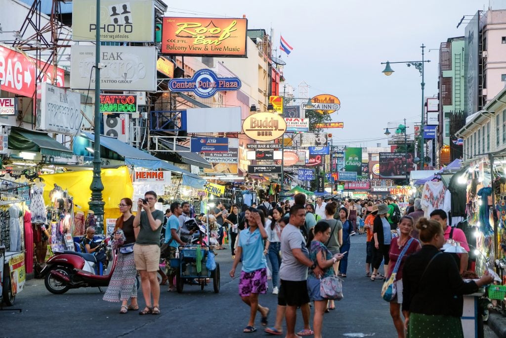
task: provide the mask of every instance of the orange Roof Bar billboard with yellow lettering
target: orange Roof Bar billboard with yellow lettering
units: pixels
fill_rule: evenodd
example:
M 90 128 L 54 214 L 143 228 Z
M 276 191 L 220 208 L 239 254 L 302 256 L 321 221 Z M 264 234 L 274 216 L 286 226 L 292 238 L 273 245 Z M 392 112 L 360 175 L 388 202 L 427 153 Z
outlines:
M 246 19 L 164 17 L 161 53 L 246 56 Z

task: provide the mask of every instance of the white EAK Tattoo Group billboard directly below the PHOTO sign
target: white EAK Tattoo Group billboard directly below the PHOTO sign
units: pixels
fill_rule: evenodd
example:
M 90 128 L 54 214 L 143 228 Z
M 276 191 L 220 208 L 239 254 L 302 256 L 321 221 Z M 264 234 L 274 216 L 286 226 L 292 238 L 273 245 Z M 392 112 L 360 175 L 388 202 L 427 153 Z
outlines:
M 156 91 L 155 47 L 101 46 L 100 53 L 101 90 Z M 95 46 L 73 45 L 70 54 L 70 88 L 95 87 Z

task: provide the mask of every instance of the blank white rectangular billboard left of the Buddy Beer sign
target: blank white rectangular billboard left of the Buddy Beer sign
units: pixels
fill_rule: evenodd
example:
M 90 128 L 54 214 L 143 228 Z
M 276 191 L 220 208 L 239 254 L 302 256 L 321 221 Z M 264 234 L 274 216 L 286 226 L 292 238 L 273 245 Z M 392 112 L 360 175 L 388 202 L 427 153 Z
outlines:
M 241 131 L 241 107 L 188 108 L 189 133 L 237 133 Z

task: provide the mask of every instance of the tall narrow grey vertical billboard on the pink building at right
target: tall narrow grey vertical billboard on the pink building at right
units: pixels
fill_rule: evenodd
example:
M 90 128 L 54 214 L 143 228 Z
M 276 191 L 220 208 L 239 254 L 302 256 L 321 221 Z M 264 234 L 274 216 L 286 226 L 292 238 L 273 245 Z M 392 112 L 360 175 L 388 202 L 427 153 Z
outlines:
M 480 12 L 469 21 L 465 28 L 464 36 L 464 87 L 465 112 L 467 116 L 478 111 L 478 77 L 479 77 L 479 56 L 480 46 Z

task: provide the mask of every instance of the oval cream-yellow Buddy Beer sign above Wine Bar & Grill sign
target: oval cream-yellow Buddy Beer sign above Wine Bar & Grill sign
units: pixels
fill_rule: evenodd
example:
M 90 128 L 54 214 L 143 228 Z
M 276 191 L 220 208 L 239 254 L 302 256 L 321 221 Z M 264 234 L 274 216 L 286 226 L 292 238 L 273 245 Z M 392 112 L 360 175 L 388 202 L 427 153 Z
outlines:
M 284 119 L 272 112 L 257 112 L 248 116 L 242 123 L 244 134 L 257 141 L 272 141 L 286 131 Z

